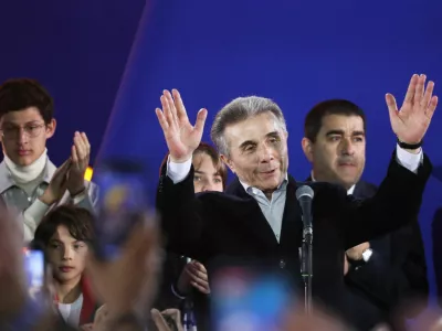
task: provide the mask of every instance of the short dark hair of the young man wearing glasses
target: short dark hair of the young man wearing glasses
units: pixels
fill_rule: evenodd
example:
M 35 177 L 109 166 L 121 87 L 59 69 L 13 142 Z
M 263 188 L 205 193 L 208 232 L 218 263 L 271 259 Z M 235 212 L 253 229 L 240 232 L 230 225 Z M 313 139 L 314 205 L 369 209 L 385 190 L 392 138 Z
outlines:
M 0 118 L 10 111 L 20 111 L 29 107 L 39 109 L 48 125 L 54 113 L 54 103 L 48 90 L 36 81 L 15 78 L 0 86 Z

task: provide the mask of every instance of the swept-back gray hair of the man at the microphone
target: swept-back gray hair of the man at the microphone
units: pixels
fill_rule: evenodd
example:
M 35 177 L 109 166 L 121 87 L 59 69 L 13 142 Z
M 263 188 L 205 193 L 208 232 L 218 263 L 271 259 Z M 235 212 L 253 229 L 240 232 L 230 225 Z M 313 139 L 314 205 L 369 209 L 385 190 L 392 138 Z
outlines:
M 248 96 L 235 98 L 227 104 L 218 111 L 210 131 L 210 137 L 217 146 L 218 151 L 221 154 L 229 156 L 229 145 L 224 137 L 224 131 L 228 126 L 265 113 L 272 113 L 281 129 L 287 131 L 283 111 L 280 106 L 271 99 L 259 96 Z

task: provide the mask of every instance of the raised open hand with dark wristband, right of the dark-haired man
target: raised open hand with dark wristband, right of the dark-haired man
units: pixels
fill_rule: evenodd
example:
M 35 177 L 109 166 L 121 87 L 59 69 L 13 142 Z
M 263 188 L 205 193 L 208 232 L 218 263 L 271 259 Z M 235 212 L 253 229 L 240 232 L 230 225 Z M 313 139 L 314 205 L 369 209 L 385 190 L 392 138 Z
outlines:
M 438 106 L 438 97 L 432 96 L 434 83 L 429 82 L 425 88 L 425 75 L 411 77 L 400 110 L 394 97 L 386 95 L 391 128 L 398 139 L 407 143 L 418 143 L 423 139 Z

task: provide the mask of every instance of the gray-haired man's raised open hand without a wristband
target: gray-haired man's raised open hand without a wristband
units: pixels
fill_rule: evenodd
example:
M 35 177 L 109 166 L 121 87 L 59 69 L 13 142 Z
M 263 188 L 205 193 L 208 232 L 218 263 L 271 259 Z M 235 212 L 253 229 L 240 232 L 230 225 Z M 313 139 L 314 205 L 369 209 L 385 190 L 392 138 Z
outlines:
M 197 121 L 192 126 L 177 89 L 172 89 L 172 94 L 165 90 L 160 100 L 162 110 L 157 108 L 155 111 L 165 134 L 170 159 L 173 162 L 186 162 L 201 142 L 207 110 L 198 111 Z

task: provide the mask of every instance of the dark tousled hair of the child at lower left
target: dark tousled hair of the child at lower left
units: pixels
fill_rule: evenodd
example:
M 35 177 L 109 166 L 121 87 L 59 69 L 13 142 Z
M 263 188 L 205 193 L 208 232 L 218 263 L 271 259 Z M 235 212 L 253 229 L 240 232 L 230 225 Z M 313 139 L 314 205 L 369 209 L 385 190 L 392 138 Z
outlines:
M 34 244 L 46 247 L 60 225 L 67 227 L 72 237 L 90 243 L 94 238 L 94 215 L 86 209 L 61 205 L 50 211 L 36 227 Z

